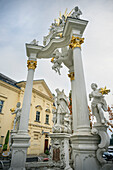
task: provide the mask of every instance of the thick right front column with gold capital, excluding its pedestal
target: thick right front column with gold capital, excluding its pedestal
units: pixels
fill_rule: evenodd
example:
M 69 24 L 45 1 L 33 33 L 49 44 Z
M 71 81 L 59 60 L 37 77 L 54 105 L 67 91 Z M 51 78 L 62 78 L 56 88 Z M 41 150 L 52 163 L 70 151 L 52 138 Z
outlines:
M 76 125 L 74 125 L 76 126 L 74 131 L 77 130 L 79 132 L 90 131 L 86 87 L 81 58 L 81 44 L 83 42 L 84 38 L 72 36 L 71 44 L 69 45 L 69 47 L 73 49 L 73 64 L 75 74 L 74 80 L 72 80 L 72 97 L 74 99 L 72 103 L 74 106 L 73 119 L 74 123 L 76 122 Z

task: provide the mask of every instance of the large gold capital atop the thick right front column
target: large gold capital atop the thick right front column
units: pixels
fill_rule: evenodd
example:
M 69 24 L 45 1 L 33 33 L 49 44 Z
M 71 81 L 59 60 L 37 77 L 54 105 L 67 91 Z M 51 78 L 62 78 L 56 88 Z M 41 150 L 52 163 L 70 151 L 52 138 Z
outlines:
M 69 44 L 69 47 L 72 49 L 74 49 L 76 47 L 81 48 L 82 43 L 84 43 L 84 38 L 72 36 L 71 43 Z

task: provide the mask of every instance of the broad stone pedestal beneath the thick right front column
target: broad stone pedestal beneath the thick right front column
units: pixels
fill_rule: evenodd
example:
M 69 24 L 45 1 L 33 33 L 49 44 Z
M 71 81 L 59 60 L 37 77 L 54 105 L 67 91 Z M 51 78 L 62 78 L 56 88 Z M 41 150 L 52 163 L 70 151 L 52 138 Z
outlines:
M 76 170 L 100 170 L 101 164 L 97 160 L 96 151 L 100 143 L 98 135 L 76 133 L 71 136 L 73 168 Z

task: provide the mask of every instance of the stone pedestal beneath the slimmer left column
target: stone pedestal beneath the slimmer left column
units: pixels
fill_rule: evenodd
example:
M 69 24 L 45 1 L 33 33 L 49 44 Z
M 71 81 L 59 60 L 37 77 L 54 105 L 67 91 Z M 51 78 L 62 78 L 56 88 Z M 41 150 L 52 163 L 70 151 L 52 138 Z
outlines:
M 25 170 L 29 140 L 30 136 L 27 133 L 17 133 L 12 137 L 12 158 L 9 170 Z

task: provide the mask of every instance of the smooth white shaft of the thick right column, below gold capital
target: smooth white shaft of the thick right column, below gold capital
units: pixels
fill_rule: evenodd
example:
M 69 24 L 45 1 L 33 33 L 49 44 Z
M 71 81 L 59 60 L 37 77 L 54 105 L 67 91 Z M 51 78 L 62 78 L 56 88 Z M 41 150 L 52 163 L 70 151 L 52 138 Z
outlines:
M 90 129 L 88 104 L 86 97 L 86 87 L 84 80 L 84 72 L 81 58 L 81 48 L 76 47 L 73 49 L 73 61 L 74 61 L 74 100 L 76 100 L 76 114 L 77 114 L 77 129 L 86 130 Z M 73 95 L 74 95 L 73 94 Z M 88 130 L 89 131 L 89 130 Z

